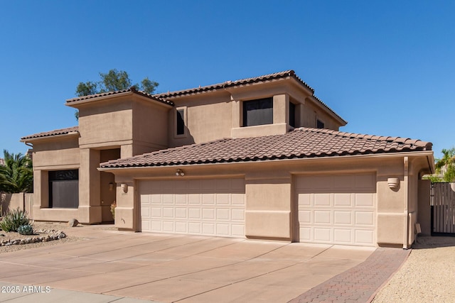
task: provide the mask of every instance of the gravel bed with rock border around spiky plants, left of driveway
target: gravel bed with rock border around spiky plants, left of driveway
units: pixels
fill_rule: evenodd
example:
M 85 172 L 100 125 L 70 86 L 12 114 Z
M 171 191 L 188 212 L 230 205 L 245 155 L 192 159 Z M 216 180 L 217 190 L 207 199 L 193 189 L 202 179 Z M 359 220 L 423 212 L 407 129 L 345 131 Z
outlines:
M 1 253 L 9 253 L 11 251 L 16 250 L 23 250 L 29 248 L 36 248 L 42 246 L 53 246 L 61 243 L 68 243 L 68 242 L 75 242 L 75 241 L 83 241 L 84 238 L 71 236 L 71 232 L 68 232 L 68 224 L 61 223 L 61 222 L 34 222 L 33 230 L 47 230 L 47 231 L 64 231 L 66 234 L 65 238 L 60 238 L 54 241 L 47 241 L 47 242 L 39 242 L 39 243 L 28 243 L 23 245 L 11 245 L 11 246 L 0 246 L 0 254 Z M 8 241 L 8 240 L 16 240 L 16 239 L 25 239 L 25 238 L 34 238 L 40 236 L 47 236 L 50 233 L 46 232 L 35 232 L 31 236 L 24 236 L 16 232 L 9 232 L 6 233 L 5 231 L 0 230 L 0 241 Z

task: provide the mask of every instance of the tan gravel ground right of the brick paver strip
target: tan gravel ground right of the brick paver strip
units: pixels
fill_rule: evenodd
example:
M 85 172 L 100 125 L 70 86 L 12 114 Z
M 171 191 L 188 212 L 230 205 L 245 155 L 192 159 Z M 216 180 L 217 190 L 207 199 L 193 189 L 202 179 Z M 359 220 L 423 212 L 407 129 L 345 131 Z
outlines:
M 374 303 L 455 302 L 455 237 L 419 237 L 418 241 Z

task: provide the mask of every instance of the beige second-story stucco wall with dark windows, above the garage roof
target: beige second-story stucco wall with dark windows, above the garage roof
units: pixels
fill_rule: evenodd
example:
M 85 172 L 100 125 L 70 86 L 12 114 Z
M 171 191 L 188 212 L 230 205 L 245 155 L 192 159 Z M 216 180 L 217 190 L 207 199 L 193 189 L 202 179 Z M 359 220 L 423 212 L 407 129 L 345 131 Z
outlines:
M 296 127 L 338 131 L 346 122 L 296 79 L 171 95 L 168 145 L 271 136 Z

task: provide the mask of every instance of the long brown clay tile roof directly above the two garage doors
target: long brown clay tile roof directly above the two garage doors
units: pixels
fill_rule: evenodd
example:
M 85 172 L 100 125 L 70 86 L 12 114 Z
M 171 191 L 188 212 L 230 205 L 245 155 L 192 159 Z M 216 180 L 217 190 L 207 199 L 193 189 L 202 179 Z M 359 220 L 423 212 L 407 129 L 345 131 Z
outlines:
M 152 167 L 223 162 L 251 162 L 296 158 L 333 157 L 432 150 L 432 143 L 385 140 L 320 128 L 296 128 L 284 135 L 226 138 L 208 143 L 158 150 L 132 158 L 101 163 L 100 167 Z

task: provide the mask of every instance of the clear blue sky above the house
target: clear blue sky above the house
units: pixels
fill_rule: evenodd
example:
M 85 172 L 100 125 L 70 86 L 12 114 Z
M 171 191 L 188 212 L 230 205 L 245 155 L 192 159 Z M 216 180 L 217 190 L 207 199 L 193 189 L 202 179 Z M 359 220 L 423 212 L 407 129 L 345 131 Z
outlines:
M 99 72 L 157 92 L 295 70 L 341 131 L 455 145 L 455 1 L 0 1 L 0 151 Z

